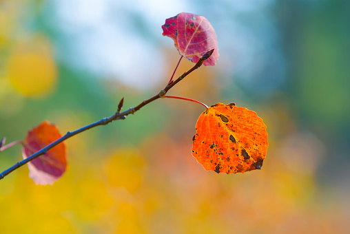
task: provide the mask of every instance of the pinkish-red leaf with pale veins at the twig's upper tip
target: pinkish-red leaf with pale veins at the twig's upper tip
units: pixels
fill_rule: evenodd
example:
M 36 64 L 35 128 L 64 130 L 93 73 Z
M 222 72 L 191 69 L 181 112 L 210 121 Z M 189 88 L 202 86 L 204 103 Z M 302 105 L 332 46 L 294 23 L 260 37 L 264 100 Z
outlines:
M 214 49 L 210 58 L 203 65 L 215 65 L 218 61 L 218 42 L 214 28 L 205 17 L 182 12 L 165 20 L 162 25 L 163 36 L 174 40 L 175 47 L 189 61 L 197 63 L 200 56 Z

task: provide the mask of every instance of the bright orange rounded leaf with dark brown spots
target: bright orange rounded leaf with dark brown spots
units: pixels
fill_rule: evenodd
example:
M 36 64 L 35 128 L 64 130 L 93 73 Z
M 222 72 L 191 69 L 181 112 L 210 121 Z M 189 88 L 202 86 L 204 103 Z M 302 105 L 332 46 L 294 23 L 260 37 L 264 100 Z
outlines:
M 197 120 L 192 156 L 207 171 L 244 173 L 263 166 L 268 146 L 266 126 L 256 112 L 216 103 Z

